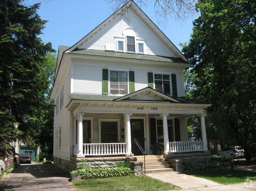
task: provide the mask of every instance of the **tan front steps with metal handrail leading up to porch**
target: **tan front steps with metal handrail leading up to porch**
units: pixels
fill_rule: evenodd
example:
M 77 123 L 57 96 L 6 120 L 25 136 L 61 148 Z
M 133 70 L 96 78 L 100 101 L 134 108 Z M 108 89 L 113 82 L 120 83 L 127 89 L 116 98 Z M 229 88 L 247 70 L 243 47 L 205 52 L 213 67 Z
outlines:
M 137 157 L 138 162 L 143 162 L 143 173 L 144 166 L 146 167 L 146 173 L 160 173 L 160 172 L 169 172 L 173 171 L 170 164 L 165 161 L 163 155 L 145 155 L 145 164 L 144 156 L 135 156 Z

